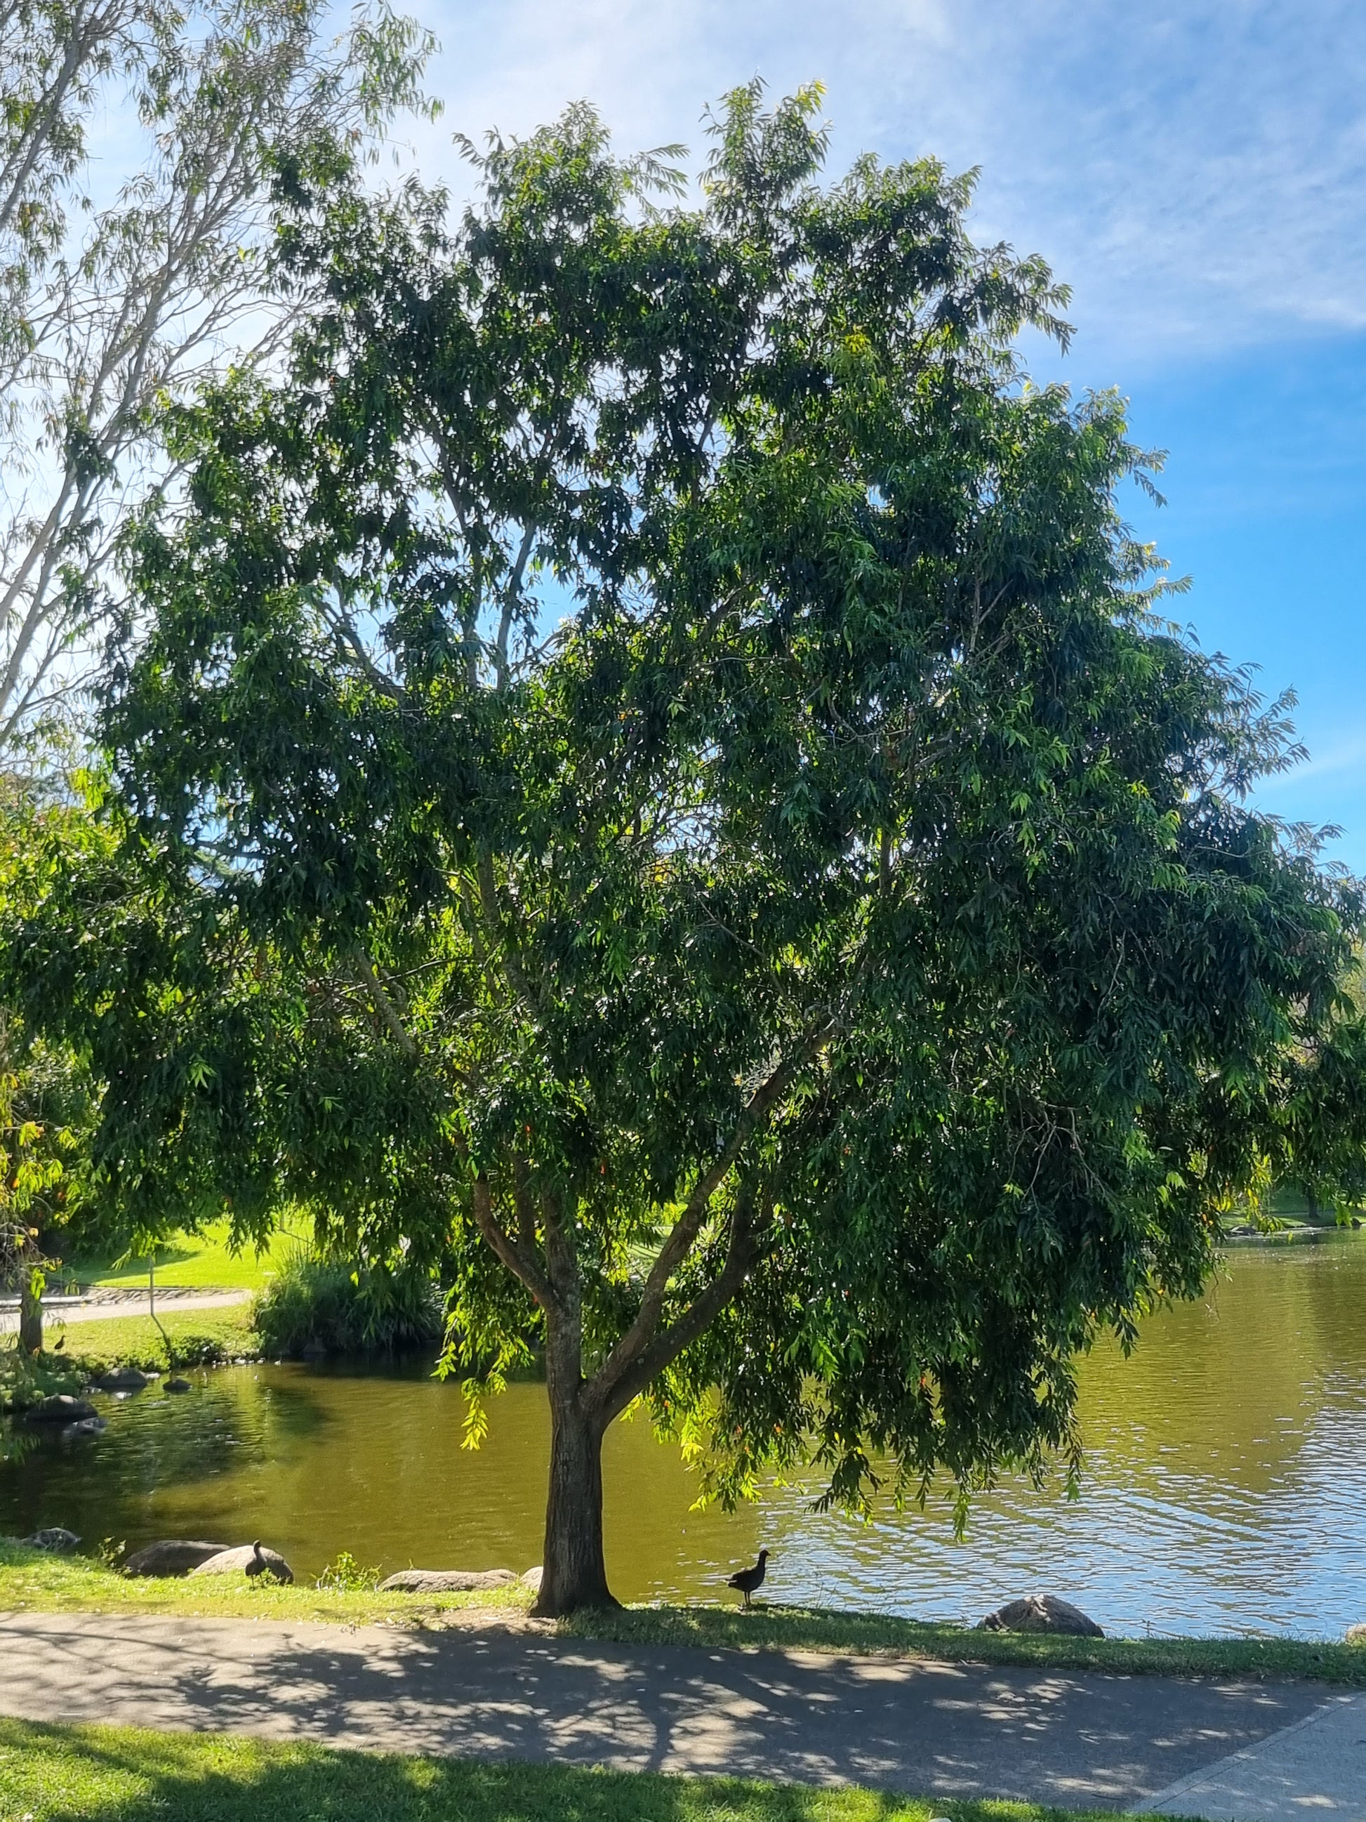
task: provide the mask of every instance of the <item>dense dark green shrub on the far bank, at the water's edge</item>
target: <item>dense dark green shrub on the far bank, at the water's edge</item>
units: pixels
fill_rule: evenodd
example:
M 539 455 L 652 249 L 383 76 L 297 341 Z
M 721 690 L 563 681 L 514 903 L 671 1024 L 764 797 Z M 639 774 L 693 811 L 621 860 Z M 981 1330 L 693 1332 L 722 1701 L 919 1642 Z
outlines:
M 299 1356 L 310 1343 L 330 1354 L 423 1346 L 444 1325 L 439 1285 L 413 1268 L 355 1268 L 301 1252 L 260 1292 L 251 1326 L 266 1354 Z

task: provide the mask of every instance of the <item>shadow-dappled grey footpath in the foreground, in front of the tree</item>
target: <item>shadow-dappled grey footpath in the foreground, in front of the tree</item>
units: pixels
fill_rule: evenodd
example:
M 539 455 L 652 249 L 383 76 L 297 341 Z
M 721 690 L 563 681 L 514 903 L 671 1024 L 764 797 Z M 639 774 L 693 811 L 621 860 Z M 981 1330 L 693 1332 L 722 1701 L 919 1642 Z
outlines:
M 1366 1822 L 1366 1704 L 1311 1684 L 42 1612 L 0 1616 L 0 1665 L 27 1720 Z

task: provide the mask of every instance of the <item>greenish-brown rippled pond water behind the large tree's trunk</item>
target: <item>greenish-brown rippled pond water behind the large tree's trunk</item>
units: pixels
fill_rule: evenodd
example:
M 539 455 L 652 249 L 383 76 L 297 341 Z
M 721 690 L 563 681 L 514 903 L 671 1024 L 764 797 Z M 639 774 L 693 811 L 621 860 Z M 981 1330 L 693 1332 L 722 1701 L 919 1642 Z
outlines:
M 95 1439 L 0 1463 L 0 1532 L 266 1538 L 302 1574 L 348 1549 L 386 1571 L 541 1560 L 548 1419 L 514 1385 L 477 1454 L 454 1385 L 424 1370 L 239 1366 L 102 1399 Z M 763 1541 L 774 1600 L 976 1620 L 1049 1589 L 1106 1627 L 1333 1634 L 1366 1618 L 1366 1241 L 1240 1248 L 1198 1305 L 1146 1325 L 1138 1352 L 1084 1363 L 1082 1498 L 1005 1485 L 963 1543 L 947 1500 L 867 1523 L 767 1487 L 692 1512 L 678 1450 L 643 1421 L 605 1450 L 607 1552 L 625 1600 L 714 1596 Z

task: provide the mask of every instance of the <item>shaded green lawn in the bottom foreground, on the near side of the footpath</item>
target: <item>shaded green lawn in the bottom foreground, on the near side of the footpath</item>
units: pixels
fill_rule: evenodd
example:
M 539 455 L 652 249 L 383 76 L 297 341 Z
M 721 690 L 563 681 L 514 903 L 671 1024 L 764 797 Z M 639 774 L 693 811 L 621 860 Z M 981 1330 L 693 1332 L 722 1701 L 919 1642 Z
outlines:
M 4 1822 L 1080 1822 L 1100 1811 L 0 1720 Z M 1115 1811 L 1106 1811 L 1118 1822 Z

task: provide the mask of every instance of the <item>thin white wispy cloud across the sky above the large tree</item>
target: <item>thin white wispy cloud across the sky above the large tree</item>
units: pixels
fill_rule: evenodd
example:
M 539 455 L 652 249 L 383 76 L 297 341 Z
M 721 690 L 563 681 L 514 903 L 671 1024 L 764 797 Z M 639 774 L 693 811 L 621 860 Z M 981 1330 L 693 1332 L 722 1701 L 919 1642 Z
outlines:
M 750 75 L 829 86 L 838 160 L 982 166 L 980 233 L 1045 253 L 1093 357 L 1366 328 L 1359 0 L 424 0 L 443 131 L 586 97 L 623 146 L 699 146 Z

